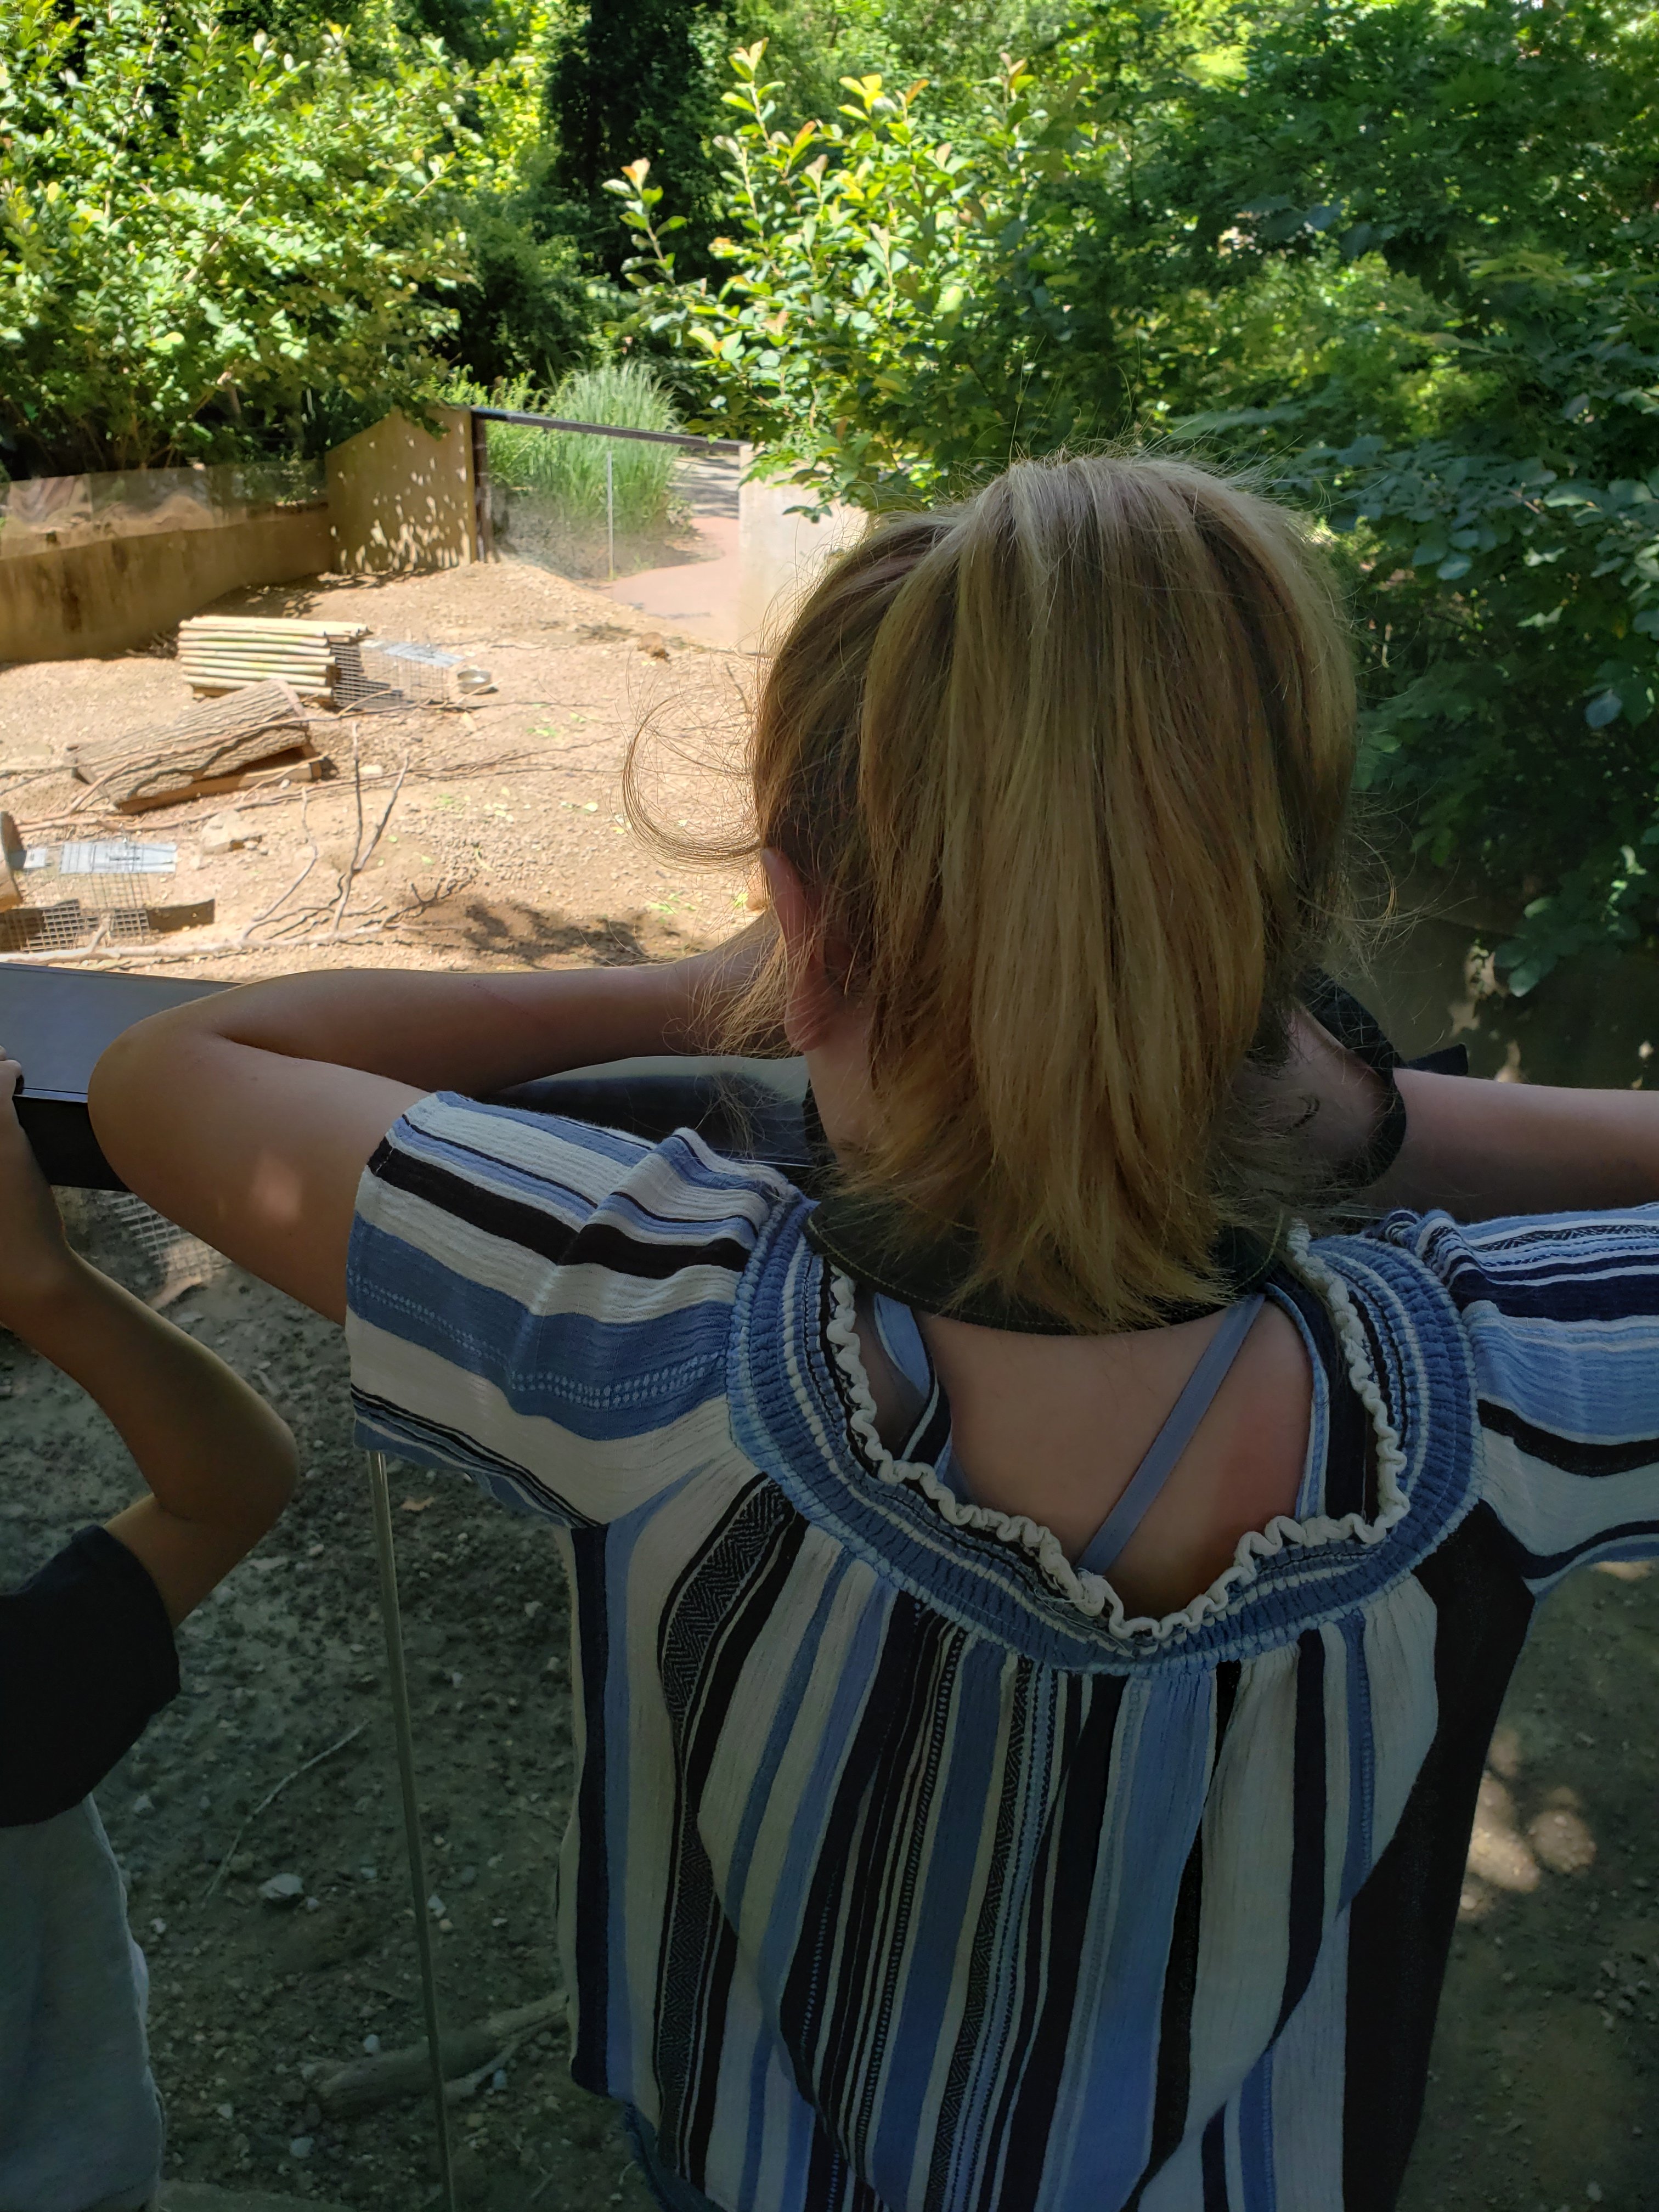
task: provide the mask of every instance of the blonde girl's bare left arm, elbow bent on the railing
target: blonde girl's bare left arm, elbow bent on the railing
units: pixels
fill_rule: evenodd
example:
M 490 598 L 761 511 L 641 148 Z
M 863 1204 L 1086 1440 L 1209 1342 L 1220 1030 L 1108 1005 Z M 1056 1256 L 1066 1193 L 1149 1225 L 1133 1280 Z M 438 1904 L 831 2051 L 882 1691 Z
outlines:
M 246 984 L 117 1037 L 93 1075 L 93 1128 L 150 1206 L 338 1321 L 358 1177 L 407 1106 L 701 1051 L 706 1011 L 770 936 L 763 918 L 714 953 L 650 967 Z

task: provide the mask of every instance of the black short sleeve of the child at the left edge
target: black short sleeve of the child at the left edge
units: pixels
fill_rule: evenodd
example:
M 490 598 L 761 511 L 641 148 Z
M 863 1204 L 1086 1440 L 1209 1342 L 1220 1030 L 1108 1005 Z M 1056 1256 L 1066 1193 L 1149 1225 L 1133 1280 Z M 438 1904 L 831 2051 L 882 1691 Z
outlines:
M 161 1593 L 108 1528 L 82 1528 L 0 1597 L 0 1827 L 80 1805 L 177 1692 Z

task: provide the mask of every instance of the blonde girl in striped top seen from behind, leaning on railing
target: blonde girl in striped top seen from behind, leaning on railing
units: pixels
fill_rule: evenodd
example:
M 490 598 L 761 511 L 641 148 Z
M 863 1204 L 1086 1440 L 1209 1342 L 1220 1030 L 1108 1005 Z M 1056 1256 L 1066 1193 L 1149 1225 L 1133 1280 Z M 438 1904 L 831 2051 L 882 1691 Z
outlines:
M 1290 518 L 1022 465 L 783 639 L 759 964 L 290 978 L 100 1068 L 365 1442 L 549 1524 L 573 2066 L 666 2205 L 1396 2201 L 1533 1604 L 1659 1551 L 1659 1108 L 1298 1011 L 1352 759 Z M 480 1104 L 757 1020 L 814 1197 Z

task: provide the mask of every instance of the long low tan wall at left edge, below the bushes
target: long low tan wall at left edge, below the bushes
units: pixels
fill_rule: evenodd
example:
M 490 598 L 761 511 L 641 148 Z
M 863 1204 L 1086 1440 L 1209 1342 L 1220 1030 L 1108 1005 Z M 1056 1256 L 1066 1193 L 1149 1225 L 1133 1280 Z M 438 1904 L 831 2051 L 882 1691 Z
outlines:
M 239 584 L 288 584 L 332 560 L 325 507 L 0 560 L 0 661 L 131 653 Z

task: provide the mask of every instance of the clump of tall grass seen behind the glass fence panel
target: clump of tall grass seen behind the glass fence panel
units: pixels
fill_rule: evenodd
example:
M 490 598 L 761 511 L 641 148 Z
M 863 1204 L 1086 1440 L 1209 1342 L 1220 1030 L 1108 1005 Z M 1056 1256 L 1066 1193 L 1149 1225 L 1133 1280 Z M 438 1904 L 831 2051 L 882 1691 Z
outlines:
M 447 398 L 476 407 L 522 407 L 526 414 L 564 416 L 566 422 L 617 422 L 624 429 L 679 429 L 666 392 L 639 361 L 577 369 L 557 392 L 538 392 L 529 376 L 484 392 L 460 378 Z M 672 445 L 637 438 L 591 438 L 489 425 L 489 473 L 507 491 L 546 500 L 566 526 L 604 524 L 604 456 L 611 453 L 619 533 L 659 531 L 668 522 L 675 462 Z

